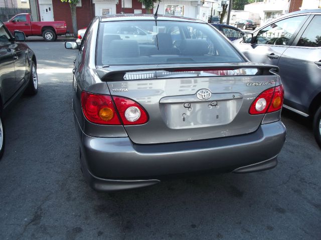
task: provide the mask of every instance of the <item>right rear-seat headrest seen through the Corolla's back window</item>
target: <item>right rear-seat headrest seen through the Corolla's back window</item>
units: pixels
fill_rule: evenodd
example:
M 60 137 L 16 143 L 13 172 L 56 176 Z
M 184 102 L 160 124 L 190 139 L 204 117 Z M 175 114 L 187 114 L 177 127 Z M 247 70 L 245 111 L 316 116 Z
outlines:
M 181 50 L 183 55 L 202 56 L 209 53 L 208 43 L 202 39 L 185 39 L 182 41 Z

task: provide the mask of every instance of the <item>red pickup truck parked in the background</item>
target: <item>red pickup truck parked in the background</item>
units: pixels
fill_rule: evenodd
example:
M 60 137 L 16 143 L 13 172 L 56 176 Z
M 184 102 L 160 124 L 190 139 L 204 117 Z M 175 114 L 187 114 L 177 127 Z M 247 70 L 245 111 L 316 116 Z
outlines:
M 33 22 L 30 14 L 18 14 L 8 22 L 4 22 L 14 35 L 15 30 L 22 31 L 26 37 L 43 36 L 46 41 L 55 41 L 58 35 L 65 35 L 67 25 L 65 21 Z

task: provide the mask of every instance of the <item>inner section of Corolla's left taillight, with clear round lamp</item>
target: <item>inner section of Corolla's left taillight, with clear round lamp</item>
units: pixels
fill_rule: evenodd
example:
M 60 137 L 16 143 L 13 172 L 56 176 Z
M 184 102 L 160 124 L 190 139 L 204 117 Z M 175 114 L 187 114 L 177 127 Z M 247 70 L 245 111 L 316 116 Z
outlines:
M 148 121 L 147 112 L 138 103 L 124 97 L 113 97 L 121 121 L 124 125 L 144 124 Z

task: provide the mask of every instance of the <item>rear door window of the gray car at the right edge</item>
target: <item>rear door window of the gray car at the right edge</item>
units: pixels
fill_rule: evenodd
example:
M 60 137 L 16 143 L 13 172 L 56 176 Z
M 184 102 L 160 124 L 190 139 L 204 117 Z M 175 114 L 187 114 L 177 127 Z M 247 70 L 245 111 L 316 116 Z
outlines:
M 301 47 L 321 47 L 321 15 L 316 15 L 309 23 L 297 46 Z

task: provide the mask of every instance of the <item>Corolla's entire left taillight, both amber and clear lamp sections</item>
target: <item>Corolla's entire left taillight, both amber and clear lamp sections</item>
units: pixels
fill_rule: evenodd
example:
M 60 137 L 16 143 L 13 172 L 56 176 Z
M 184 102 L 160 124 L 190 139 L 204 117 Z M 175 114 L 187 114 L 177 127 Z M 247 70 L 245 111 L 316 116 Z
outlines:
M 144 124 L 148 121 L 146 111 L 138 103 L 124 97 L 112 98 L 83 91 L 81 106 L 88 121 L 96 124 L 121 125 L 118 114 L 123 125 Z

